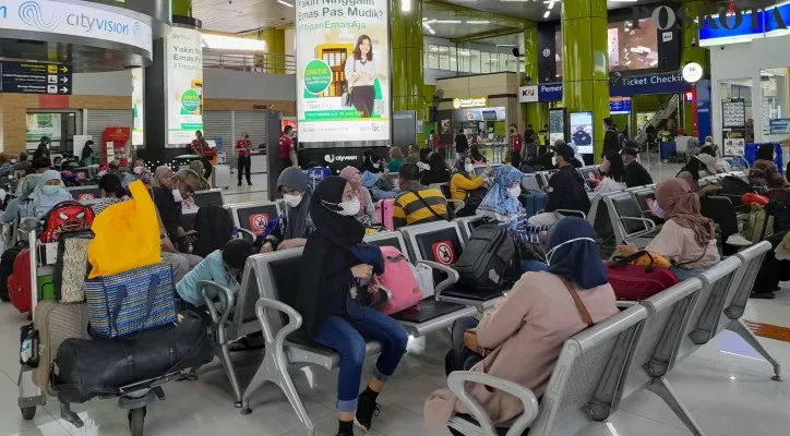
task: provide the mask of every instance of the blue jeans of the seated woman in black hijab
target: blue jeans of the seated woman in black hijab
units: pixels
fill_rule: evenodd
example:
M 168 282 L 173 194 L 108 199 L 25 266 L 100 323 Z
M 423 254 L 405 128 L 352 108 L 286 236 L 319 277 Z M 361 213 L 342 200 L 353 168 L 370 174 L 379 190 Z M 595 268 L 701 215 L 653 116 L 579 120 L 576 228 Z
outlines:
M 357 410 L 359 385 L 364 362 L 364 338 L 381 342 L 381 354 L 375 362 L 373 376 L 387 382 L 406 353 L 408 335 L 398 322 L 376 311 L 360 307 L 355 317 L 330 316 L 319 331 L 315 341 L 340 354 L 340 373 L 337 377 L 337 410 Z

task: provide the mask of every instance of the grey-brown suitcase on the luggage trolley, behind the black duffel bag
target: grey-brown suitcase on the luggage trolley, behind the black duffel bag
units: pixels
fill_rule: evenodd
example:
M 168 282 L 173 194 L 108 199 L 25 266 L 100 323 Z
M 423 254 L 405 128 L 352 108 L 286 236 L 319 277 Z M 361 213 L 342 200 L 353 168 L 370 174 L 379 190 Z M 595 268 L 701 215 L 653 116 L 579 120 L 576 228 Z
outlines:
M 91 339 L 87 331 L 87 304 L 59 304 L 41 301 L 36 304 L 34 327 L 38 331 L 39 364 L 33 372 L 33 383 L 48 395 L 57 392 L 49 386 L 49 371 L 58 347 L 67 339 Z

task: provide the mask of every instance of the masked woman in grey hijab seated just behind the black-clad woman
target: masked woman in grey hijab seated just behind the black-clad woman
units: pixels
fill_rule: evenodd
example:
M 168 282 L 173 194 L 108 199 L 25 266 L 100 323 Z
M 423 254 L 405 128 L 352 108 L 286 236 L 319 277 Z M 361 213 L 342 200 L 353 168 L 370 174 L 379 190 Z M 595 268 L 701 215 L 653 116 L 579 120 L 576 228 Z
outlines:
M 285 201 L 285 210 L 266 235 L 261 253 L 304 246 L 307 238 L 315 231 L 310 218 L 310 189 L 308 177 L 299 168 L 289 167 L 277 178 L 277 190 Z

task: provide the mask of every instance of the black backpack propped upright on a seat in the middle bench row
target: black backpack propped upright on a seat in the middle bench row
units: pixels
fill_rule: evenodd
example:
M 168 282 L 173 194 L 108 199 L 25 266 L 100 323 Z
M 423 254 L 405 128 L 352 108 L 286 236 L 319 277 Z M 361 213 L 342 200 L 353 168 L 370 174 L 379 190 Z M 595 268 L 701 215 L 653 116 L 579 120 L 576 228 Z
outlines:
M 501 226 L 480 226 L 469 237 L 455 270 L 458 283 L 480 291 L 502 288 L 506 272 L 516 261 L 516 245 Z

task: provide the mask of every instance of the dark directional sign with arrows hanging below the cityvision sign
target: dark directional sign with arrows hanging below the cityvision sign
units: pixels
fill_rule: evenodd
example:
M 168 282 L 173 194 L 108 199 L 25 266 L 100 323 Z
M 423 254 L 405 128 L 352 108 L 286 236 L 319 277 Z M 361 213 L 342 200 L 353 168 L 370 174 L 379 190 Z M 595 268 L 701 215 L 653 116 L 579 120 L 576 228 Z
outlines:
M 0 93 L 70 95 L 71 65 L 0 61 Z

